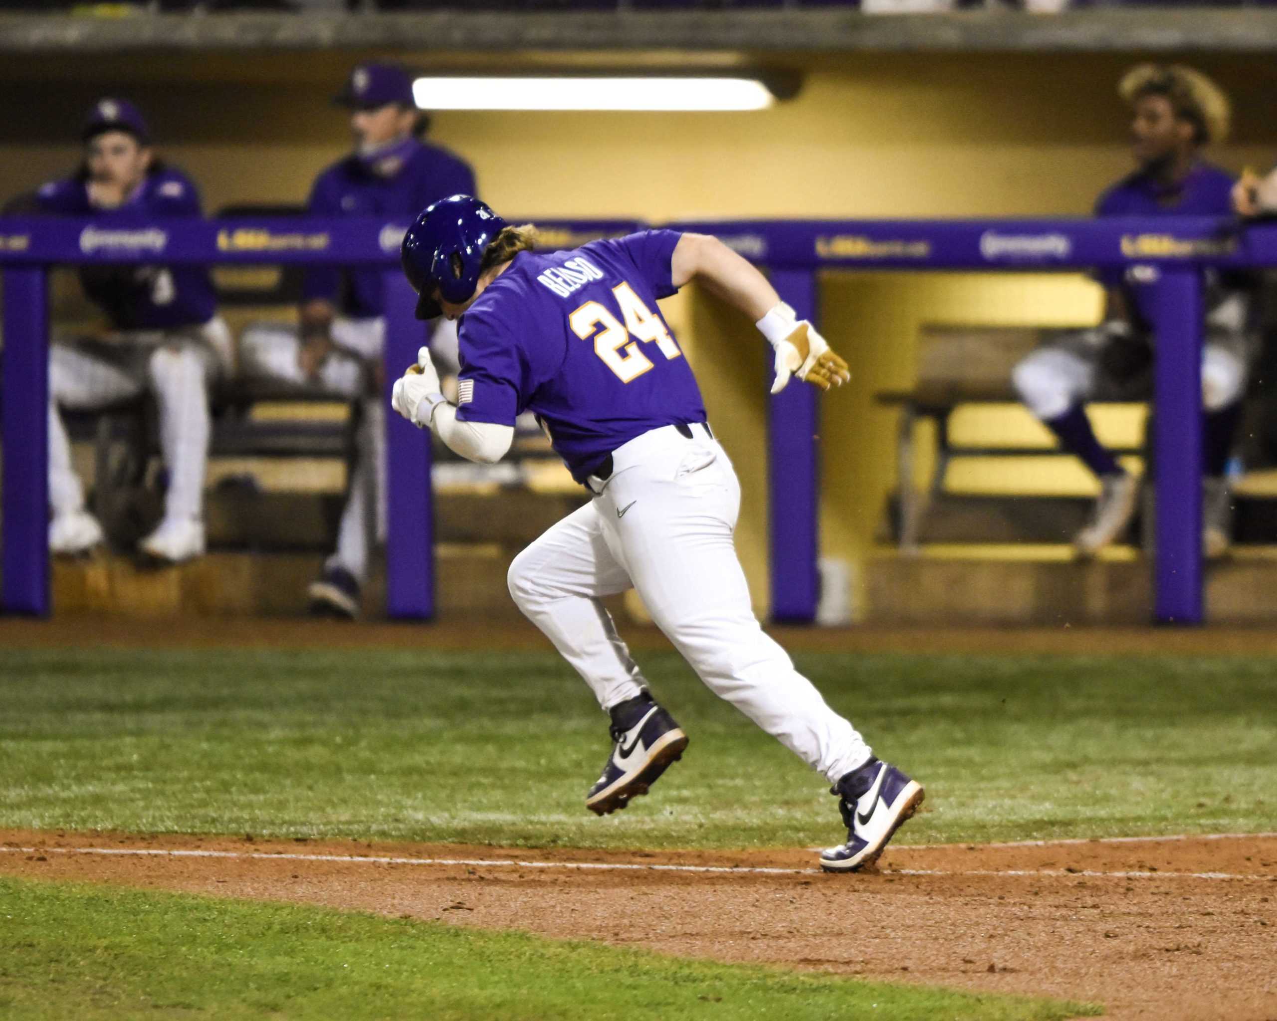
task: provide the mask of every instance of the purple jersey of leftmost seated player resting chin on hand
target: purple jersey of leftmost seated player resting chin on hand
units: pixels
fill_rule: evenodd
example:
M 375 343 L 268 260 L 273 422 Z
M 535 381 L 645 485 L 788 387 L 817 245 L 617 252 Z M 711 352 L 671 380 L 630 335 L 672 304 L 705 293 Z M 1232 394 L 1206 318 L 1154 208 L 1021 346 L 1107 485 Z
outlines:
M 198 217 L 199 191 L 172 167 L 157 167 L 117 209 L 97 209 L 82 176 L 51 181 L 36 193 L 41 212 L 92 217 L 103 228 L 126 228 L 153 220 Z M 198 265 L 82 265 L 84 294 L 116 329 L 170 329 L 207 323 L 217 311 L 208 271 Z

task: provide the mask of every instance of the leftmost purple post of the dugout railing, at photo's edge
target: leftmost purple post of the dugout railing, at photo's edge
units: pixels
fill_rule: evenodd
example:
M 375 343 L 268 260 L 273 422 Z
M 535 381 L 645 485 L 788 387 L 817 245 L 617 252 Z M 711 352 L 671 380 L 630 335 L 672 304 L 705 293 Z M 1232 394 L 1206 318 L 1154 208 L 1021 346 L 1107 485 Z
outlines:
M 5 269 L 4 582 L 6 614 L 49 615 L 49 281 L 43 267 Z

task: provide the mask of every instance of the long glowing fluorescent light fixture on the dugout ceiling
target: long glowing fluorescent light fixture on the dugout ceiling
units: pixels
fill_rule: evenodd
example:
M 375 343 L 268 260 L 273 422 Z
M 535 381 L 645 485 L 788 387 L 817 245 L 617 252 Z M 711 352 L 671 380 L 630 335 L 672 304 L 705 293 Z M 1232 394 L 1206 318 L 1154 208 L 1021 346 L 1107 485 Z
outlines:
M 755 78 L 418 78 L 421 110 L 764 110 Z

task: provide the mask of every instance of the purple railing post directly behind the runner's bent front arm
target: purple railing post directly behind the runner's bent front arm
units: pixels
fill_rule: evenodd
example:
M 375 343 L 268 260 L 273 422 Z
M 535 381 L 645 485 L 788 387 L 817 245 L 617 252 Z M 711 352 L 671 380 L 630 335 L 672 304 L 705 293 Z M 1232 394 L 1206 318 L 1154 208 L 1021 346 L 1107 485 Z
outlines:
M 416 319 L 416 295 L 396 268 L 386 279 L 386 614 L 434 616 L 434 504 L 430 434 L 391 411 L 391 388 L 416 361 L 429 328 Z

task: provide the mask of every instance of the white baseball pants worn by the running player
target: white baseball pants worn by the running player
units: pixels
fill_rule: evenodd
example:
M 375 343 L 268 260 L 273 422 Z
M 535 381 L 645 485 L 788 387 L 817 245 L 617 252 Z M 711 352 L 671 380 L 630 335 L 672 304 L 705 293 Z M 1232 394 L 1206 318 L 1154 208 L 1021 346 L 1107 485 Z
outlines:
M 603 596 L 636 588 L 701 680 L 834 784 L 872 752 L 759 625 L 733 532 L 741 485 L 701 425 L 613 452 L 598 495 L 510 565 L 510 593 L 609 710 L 646 687 Z

